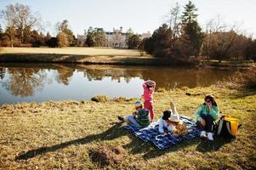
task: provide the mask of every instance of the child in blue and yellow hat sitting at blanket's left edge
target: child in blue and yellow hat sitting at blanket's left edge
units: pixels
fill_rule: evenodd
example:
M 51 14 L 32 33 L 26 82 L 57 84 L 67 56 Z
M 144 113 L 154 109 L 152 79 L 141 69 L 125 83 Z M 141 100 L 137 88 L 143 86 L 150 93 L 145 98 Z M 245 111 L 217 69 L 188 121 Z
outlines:
M 133 115 L 125 116 L 118 116 L 118 119 L 122 122 L 128 122 L 133 124 L 135 127 L 144 128 L 150 125 L 150 117 L 149 111 L 143 109 L 143 104 L 141 101 L 137 101 L 135 103 L 135 109 Z

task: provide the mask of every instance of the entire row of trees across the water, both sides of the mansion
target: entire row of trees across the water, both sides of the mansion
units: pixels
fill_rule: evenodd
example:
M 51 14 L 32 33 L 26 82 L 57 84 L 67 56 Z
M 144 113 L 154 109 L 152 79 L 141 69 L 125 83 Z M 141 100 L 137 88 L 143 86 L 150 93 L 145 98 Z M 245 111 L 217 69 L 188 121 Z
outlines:
M 256 59 L 256 40 L 247 37 L 236 26 L 230 29 L 219 18 L 210 20 L 205 31 L 197 22 L 197 8 L 189 1 L 183 11 L 179 3 L 171 8 L 168 23 L 159 26 L 151 37 L 142 39 L 132 29 L 126 32 L 125 42 L 128 48 L 145 50 L 155 57 L 173 59 L 174 62 L 196 62 L 202 59 Z M 26 5 L 9 4 L 0 11 L 5 23 L 3 31 L 0 25 L 0 46 L 2 47 L 73 47 L 77 38 L 69 26 L 68 20 L 56 24 L 57 35 L 39 31 L 41 19 Z M 89 27 L 84 46 L 104 47 L 107 37 L 105 30 Z

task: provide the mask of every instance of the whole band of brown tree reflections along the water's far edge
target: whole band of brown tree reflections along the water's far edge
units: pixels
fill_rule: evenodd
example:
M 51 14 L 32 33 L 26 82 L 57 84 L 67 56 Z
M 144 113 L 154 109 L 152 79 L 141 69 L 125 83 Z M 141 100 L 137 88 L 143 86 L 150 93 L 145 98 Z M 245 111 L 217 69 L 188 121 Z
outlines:
M 105 77 L 117 82 L 130 82 L 133 78 L 154 80 L 156 88 L 195 88 L 208 87 L 218 81 L 227 79 L 234 71 L 220 71 L 218 69 L 145 67 L 145 66 L 113 66 L 113 65 L 8 65 L 0 68 L 0 78 L 3 87 L 11 91 L 14 96 L 27 97 L 42 90 L 45 83 L 53 81 L 69 86 L 74 75 L 82 72 L 85 77 L 81 82 L 100 81 Z M 77 72 L 74 72 L 77 71 Z M 53 77 L 49 76 L 52 75 Z M 104 82 L 106 83 L 106 82 Z M 108 86 L 108 84 L 105 84 Z M 138 84 L 141 87 L 141 84 Z M 77 90 L 77 89 L 73 89 Z M 95 89 L 95 92 L 97 89 Z M 120 94 L 125 95 L 125 94 Z

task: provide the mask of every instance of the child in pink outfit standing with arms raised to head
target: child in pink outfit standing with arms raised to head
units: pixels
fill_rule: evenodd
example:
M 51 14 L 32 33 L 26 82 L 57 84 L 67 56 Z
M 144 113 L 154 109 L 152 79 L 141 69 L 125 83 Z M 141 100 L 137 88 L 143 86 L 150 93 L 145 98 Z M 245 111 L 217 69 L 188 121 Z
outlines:
M 148 80 L 144 82 L 142 86 L 144 88 L 144 107 L 150 111 L 151 122 L 153 122 L 155 115 L 153 111 L 153 94 L 155 92 L 156 82 Z

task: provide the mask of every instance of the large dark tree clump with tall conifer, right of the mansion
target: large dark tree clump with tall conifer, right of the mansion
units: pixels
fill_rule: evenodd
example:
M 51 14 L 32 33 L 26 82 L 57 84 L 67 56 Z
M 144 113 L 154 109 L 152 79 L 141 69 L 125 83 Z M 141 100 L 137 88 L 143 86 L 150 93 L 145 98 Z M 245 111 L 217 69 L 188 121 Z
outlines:
M 185 63 L 202 59 L 256 60 L 256 40 L 238 33 L 236 26 L 227 30 L 218 17 L 210 20 L 206 31 L 202 31 L 196 20 L 195 4 L 189 1 L 182 14 L 180 11 L 176 3 L 168 16 L 168 24 L 163 24 L 142 41 L 147 54 Z

